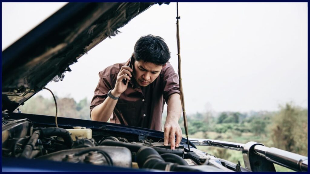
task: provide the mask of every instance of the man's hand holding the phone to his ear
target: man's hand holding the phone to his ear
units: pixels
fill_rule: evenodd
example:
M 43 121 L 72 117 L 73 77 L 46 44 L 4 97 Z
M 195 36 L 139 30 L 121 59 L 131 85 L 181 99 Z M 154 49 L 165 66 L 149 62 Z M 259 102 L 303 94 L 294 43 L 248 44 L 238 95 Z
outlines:
M 132 69 L 129 67 L 129 60 L 126 62 L 124 66 L 122 66 L 120 72 L 117 74 L 116 84 L 114 89 L 111 91 L 112 95 L 115 97 L 120 96 L 128 87 L 128 82 L 132 77 L 131 75 Z M 126 85 L 123 83 L 123 79 L 126 78 Z

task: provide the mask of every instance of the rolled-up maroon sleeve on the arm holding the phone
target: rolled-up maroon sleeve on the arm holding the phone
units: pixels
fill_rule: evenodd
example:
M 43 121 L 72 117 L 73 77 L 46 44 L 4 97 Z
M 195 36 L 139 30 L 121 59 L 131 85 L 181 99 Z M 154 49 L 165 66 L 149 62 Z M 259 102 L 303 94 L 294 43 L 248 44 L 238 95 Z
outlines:
M 109 90 L 111 90 L 111 89 L 112 89 L 112 87 L 109 84 L 108 80 L 105 77 L 103 77 L 101 72 L 99 72 L 99 82 L 98 82 L 98 85 L 94 91 L 94 97 L 91 100 L 91 106 L 90 106 L 91 111 L 94 109 L 95 106 L 104 102 L 104 100 L 108 96 Z M 91 113 L 91 111 L 90 111 L 90 113 Z

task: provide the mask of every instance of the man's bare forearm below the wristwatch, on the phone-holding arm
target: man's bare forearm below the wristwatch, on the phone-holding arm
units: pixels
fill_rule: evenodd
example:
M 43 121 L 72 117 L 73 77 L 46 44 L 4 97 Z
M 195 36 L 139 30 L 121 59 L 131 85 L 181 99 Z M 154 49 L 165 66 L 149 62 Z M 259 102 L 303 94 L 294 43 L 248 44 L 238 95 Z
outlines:
M 114 110 L 116 103 L 117 100 L 107 97 L 104 102 L 93 108 L 91 111 L 91 120 L 107 122 Z

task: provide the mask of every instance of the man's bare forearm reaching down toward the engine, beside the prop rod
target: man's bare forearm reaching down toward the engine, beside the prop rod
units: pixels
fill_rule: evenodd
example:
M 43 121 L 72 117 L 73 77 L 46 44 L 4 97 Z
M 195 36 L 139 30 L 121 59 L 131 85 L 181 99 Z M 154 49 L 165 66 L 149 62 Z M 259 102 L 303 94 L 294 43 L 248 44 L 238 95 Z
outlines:
M 168 100 L 167 118 L 166 120 L 179 121 L 182 112 L 182 104 L 180 94 L 172 94 Z

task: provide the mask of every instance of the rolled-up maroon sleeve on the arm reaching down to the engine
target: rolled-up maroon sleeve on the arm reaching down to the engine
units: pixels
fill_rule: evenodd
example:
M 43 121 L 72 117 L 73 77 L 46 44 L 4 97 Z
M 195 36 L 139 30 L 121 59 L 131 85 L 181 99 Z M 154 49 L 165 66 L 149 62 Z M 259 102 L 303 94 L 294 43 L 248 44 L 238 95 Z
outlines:
M 165 67 L 162 68 L 162 79 L 163 97 L 167 103 L 170 95 L 175 93 L 180 94 L 179 76 L 177 73 L 175 73 L 169 62 Z

